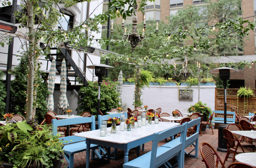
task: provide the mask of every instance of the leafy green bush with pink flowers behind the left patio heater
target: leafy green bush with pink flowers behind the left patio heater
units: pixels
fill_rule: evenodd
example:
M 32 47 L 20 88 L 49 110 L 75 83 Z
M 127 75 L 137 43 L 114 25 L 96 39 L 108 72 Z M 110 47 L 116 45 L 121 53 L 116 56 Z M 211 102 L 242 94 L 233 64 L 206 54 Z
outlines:
M 102 80 L 100 86 L 100 111 L 104 114 L 113 108 L 119 107 L 118 96 L 116 90 L 117 82 L 109 78 Z M 80 106 L 76 110 L 89 111 L 92 115 L 97 114 L 97 101 L 98 101 L 98 81 L 88 81 L 88 85 L 81 86 L 79 90 L 81 100 Z

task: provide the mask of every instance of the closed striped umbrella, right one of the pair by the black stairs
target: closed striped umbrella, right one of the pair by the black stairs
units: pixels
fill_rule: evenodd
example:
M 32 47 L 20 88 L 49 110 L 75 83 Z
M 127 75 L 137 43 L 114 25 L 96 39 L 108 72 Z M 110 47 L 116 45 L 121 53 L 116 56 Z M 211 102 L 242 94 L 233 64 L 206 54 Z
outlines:
M 58 108 L 63 110 L 69 107 L 69 103 L 67 101 L 67 68 L 66 68 L 66 61 L 63 59 L 61 64 L 61 82 L 60 82 L 60 92 L 61 95 L 59 97 L 59 104 Z

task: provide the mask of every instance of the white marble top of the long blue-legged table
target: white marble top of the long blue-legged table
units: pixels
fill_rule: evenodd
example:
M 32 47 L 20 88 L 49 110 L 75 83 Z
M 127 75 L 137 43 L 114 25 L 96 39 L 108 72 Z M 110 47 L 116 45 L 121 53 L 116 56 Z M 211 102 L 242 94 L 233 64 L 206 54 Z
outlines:
M 152 121 L 152 124 L 150 124 L 149 126 L 135 126 L 135 128 L 132 128 L 131 131 L 127 131 L 125 129 L 125 131 L 117 131 L 116 133 L 111 133 L 110 136 L 106 135 L 105 137 L 100 137 L 100 129 L 76 133 L 75 136 L 118 144 L 127 144 L 138 139 L 153 135 L 155 132 L 161 132 L 168 128 L 175 127 L 178 125 L 180 124 L 172 122 L 159 122 L 159 124 L 154 124 L 154 121 Z M 119 128 L 119 126 L 117 127 Z M 107 131 L 110 132 L 111 127 L 108 127 Z

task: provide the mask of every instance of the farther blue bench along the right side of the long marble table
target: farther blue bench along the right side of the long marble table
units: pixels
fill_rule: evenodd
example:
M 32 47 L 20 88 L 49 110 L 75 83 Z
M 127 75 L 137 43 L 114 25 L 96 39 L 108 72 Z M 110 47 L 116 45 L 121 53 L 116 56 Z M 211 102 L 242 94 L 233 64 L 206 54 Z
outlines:
M 186 123 L 186 128 L 185 130 L 191 128 L 191 127 L 194 127 L 195 125 L 197 125 L 197 131 L 196 133 L 194 133 L 193 135 L 189 136 L 189 137 L 186 137 L 185 138 L 185 142 L 183 143 L 183 151 L 184 151 L 184 155 L 186 156 L 193 156 L 193 157 L 196 157 L 198 158 L 198 145 L 199 145 L 199 130 L 200 130 L 200 123 L 201 123 L 201 117 L 199 117 L 198 119 L 194 119 L 194 120 L 191 120 L 190 122 L 185 122 Z M 179 142 L 181 139 L 181 137 L 178 137 L 176 139 L 174 139 L 173 141 L 170 141 L 162 146 L 165 146 L 165 147 L 172 147 L 174 146 L 177 142 Z M 194 144 L 196 143 L 196 144 Z M 190 145 L 193 145 L 195 148 L 191 151 L 193 152 L 195 150 L 195 154 L 191 154 L 191 152 L 187 152 L 185 149 L 187 147 L 189 147 Z M 185 157 L 185 156 L 183 156 Z M 177 163 L 176 163 L 177 164 Z M 173 166 L 176 166 L 173 165 Z M 183 161 L 183 167 L 184 167 L 184 161 Z

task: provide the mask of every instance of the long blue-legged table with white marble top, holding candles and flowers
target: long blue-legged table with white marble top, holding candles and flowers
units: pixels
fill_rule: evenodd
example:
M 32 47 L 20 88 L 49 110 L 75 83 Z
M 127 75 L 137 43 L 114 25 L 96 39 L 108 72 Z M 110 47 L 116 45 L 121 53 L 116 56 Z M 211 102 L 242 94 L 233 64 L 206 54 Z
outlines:
M 132 128 L 131 131 L 118 131 L 110 136 L 100 137 L 100 129 L 88 132 L 77 133 L 75 136 L 86 138 L 86 168 L 90 163 L 90 144 L 107 146 L 109 148 L 117 148 L 124 150 L 124 163 L 128 162 L 128 152 L 131 148 L 137 147 L 137 157 L 139 157 L 139 148 L 141 144 L 145 144 L 153 140 L 155 132 L 161 132 L 171 127 L 180 125 L 179 123 L 159 122 L 149 126 L 141 126 Z M 107 128 L 111 131 L 111 127 Z M 110 149 L 108 150 L 108 161 L 110 161 Z

